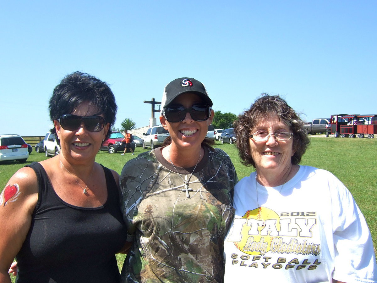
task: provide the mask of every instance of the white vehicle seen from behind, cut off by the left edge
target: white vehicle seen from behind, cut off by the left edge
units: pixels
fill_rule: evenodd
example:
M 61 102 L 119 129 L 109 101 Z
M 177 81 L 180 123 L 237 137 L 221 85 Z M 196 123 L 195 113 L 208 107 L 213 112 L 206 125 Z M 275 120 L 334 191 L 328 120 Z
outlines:
M 29 151 L 25 140 L 19 135 L 0 135 L 0 161 L 28 159 Z

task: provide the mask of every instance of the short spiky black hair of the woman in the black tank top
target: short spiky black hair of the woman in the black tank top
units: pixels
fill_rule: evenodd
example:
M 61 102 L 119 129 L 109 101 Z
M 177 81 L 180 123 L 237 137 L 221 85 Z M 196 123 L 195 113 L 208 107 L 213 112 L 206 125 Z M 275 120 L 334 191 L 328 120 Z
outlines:
M 59 120 L 61 115 L 72 113 L 85 101 L 97 108 L 98 114 L 103 114 L 106 123 L 110 124 L 108 138 L 118 109 L 115 97 L 107 83 L 87 73 L 77 71 L 68 74 L 55 87 L 49 101 L 51 120 Z M 51 129 L 51 133 L 56 134 L 55 128 Z

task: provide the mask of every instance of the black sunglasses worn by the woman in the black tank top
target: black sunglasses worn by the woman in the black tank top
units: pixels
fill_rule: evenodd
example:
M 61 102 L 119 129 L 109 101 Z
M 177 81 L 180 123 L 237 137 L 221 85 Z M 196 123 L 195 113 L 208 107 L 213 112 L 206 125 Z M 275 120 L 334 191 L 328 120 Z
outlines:
M 84 123 L 85 129 L 90 132 L 99 132 L 105 126 L 105 119 L 101 116 L 77 116 L 64 114 L 59 118 L 60 126 L 67 131 L 76 131 Z

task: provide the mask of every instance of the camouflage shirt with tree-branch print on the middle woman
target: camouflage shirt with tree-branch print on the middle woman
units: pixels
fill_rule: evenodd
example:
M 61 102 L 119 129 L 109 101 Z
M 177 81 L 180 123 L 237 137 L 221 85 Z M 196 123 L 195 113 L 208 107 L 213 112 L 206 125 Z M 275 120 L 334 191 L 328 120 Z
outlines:
M 194 168 L 176 169 L 184 180 Z M 223 282 L 223 244 L 234 215 L 237 174 L 221 149 L 208 150 L 189 192 L 161 148 L 128 161 L 121 173 L 123 218 L 133 245 L 121 282 Z M 187 195 L 189 194 L 189 197 Z

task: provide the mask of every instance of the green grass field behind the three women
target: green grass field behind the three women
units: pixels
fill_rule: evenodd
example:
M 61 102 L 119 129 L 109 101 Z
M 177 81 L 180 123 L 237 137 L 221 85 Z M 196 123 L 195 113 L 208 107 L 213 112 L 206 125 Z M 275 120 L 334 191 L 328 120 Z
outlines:
M 216 147 L 223 149 L 230 156 L 239 179 L 248 176 L 250 172 L 254 171 L 254 168 L 241 164 L 234 145 L 221 145 L 219 141 L 216 141 Z M 147 150 L 136 148 L 135 155 L 127 153 L 124 156 L 120 155 L 121 152 L 110 155 L 105 151 L 101 151 L 98 152 L 96 161 L 120 173 L 126 161 L 144 151 Z M 376 152 L 377 138 L 325 138 L 323 135 L 315 135 L 311 137 L 311 145 L 303 155 L 300 163 L 301 165 L 310 165 L 332 172 L 351 191 L 371 230 L 375 252 L 377 247 Z M 37 154 L 33 151 L 26 163 L 44 159 L 46 159 L 44 153 Z M 24 165 L 17 161 L 0 165 L 2 188 L 7 185 L 12 174 Z M 117 255 L 117 258 L 119 266 L 122 266 L 124 255 Z

